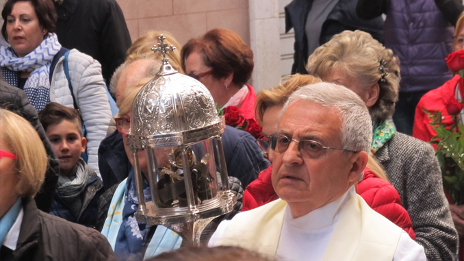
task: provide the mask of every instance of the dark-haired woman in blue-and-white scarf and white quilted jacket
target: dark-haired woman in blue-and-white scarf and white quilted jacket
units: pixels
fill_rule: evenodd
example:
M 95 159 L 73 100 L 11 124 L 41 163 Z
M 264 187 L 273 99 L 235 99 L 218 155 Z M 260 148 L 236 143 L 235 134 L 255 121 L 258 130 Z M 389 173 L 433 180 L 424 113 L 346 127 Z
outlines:
M 99 173 L 97 150 L 112 118 L 99 62 L 57 40 L 51 0 L 8 0 L 1 12 L 0 75 L 23 89 L 38 112 L 51 101 L 81 111 L 88 163 Z

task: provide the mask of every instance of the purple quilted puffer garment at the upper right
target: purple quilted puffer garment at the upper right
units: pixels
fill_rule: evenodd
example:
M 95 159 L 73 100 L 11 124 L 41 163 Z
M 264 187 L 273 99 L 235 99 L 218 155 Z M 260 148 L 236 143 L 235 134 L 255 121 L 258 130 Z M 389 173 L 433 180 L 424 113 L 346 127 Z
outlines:
M 387 1 L 385 47 L 401 62 L 400 91 L 432 90 L 452 77 L 445 58 L 454 27 L 433 0 Z

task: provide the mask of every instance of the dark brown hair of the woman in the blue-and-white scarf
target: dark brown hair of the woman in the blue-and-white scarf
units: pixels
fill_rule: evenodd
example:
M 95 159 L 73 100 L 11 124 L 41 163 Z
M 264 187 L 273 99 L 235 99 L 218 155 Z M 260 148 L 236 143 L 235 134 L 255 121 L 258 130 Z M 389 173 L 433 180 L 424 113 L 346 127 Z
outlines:
M 3 18 L 1 36 L 3 36 L 5 40 L 8 41 L 8 34 L 6 32 L 7 18 L 13 10 L 13 5 L 21 1 L 31 3 L 42 29 L 47 30 L 48 33 L 55 32 L 57 15 L 55 12 L 55 6 L 51 0 L 8 0 L 1 11 L 1 17 Z M 47 37 L 47 34 L 45 34 L 44 38 L 45 37 Z

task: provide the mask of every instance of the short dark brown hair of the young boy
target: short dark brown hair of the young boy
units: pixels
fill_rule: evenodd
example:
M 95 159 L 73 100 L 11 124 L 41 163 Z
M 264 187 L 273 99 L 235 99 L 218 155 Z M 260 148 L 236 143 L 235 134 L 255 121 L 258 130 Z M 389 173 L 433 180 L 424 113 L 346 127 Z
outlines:
M 74 108 L 55 102 L 48 103 L 44 110 L 39 113 L 39 120 L 45 132 L 50 125 L 60 124 L 64 120 L 70 121 L 76 125 L 77 131 L 82 136 L 81 115 Z

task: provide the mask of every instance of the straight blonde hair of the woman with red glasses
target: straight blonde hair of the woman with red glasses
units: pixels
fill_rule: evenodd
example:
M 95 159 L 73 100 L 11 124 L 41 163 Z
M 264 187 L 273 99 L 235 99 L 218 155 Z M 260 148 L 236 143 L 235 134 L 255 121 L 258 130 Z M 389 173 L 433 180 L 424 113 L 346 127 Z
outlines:
M 48 161 L 36 129 L 23 117 L 0 108 L 0 138 L 16 155 L 16 192 L 34 197 L 44 181 Z

